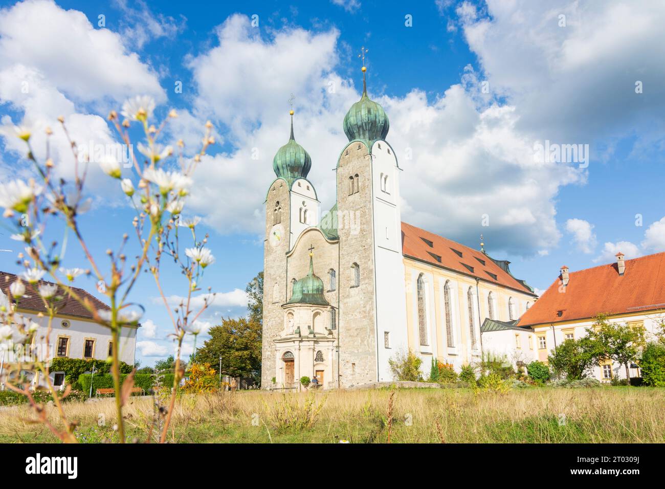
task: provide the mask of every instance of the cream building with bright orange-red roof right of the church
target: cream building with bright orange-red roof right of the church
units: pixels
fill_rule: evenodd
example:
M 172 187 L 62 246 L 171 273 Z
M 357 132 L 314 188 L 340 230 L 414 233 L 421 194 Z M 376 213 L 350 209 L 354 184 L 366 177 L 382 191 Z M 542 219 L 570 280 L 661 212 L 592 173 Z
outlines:
M 644 327 L 647 337 L 654 333 L 665 318 L 665 253 L 628 260 L 617 253 L 614 263 L 579 271 L 563 266 L 516 326 L 533 331 L 537 359 L 547 362 L 557 345 L 586 335 L 599 314 L 611 322 Z M 616 375 L 626 377 L 616 363 L 608 361 L 595 369 L 595 377 L 602 381 Z M 632 369 L 631 376 L 637 375 Z

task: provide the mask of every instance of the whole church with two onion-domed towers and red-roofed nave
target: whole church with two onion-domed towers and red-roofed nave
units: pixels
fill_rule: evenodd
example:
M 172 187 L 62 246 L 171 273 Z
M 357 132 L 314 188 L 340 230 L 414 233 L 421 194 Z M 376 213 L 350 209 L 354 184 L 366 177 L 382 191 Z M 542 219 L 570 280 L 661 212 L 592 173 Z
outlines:
M 389 360 L 478 361 L 486 318 L 514 321 L 537 296 L 509 262 L 402 222 L 397 156 L 380 104 L 362 96 L 343 121 L 336 203 L 321 212 L 312 160 L 291 136 L 266 200 L 261 384 L 291 389 L 393 381 Z M 443 219 L 443 218 L 442 218 Z

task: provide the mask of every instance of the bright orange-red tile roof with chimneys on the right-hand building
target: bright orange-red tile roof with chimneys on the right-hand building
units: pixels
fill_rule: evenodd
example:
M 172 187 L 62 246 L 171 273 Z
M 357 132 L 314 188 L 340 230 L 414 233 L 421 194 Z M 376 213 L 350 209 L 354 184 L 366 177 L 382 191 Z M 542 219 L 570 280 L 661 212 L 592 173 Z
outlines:
M 561 275 L 519 319 L 519 326 L 588 319 L 600 313 L 614 315 L 665 308 L 665 253 L 569 272 L 565 293 Z M 561 316 L 559 316 L 561 311 Z

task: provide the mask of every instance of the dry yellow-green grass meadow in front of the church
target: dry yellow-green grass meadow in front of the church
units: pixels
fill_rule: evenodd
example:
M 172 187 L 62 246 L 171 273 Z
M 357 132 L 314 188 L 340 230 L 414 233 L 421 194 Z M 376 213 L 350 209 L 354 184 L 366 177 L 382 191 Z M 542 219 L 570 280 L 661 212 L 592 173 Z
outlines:
M 665 389 L 599 387 L 513 389 L 400 389 L 268 393 L 245 391 L 182 396 L 170 442 L 331 443 L 386 442 L 392 401 L 392 442 L 664 442 Z M 148 439 L 150 399 L 132 399 L 124 411 L 128 440 Z M 49 416 L 57 422 L 53 407 Z M 67 403 L 81 442 L 116 440 L 113 401 Z M 0 442 L 54 442 L 30 422 L 29 408 L 0 410 Z M 154 438 L 154 437 L 153 437 Z

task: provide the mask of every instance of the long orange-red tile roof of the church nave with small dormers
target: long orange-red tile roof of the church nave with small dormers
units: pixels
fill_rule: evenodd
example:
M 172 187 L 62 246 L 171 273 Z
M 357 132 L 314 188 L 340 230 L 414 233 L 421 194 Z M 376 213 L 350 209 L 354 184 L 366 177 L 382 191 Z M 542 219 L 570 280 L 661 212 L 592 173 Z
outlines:
M 482 251 L 416 228 L 406 222 L 402 222 L 402 254 L 535 296 L 527 285 L 497 265 Z

